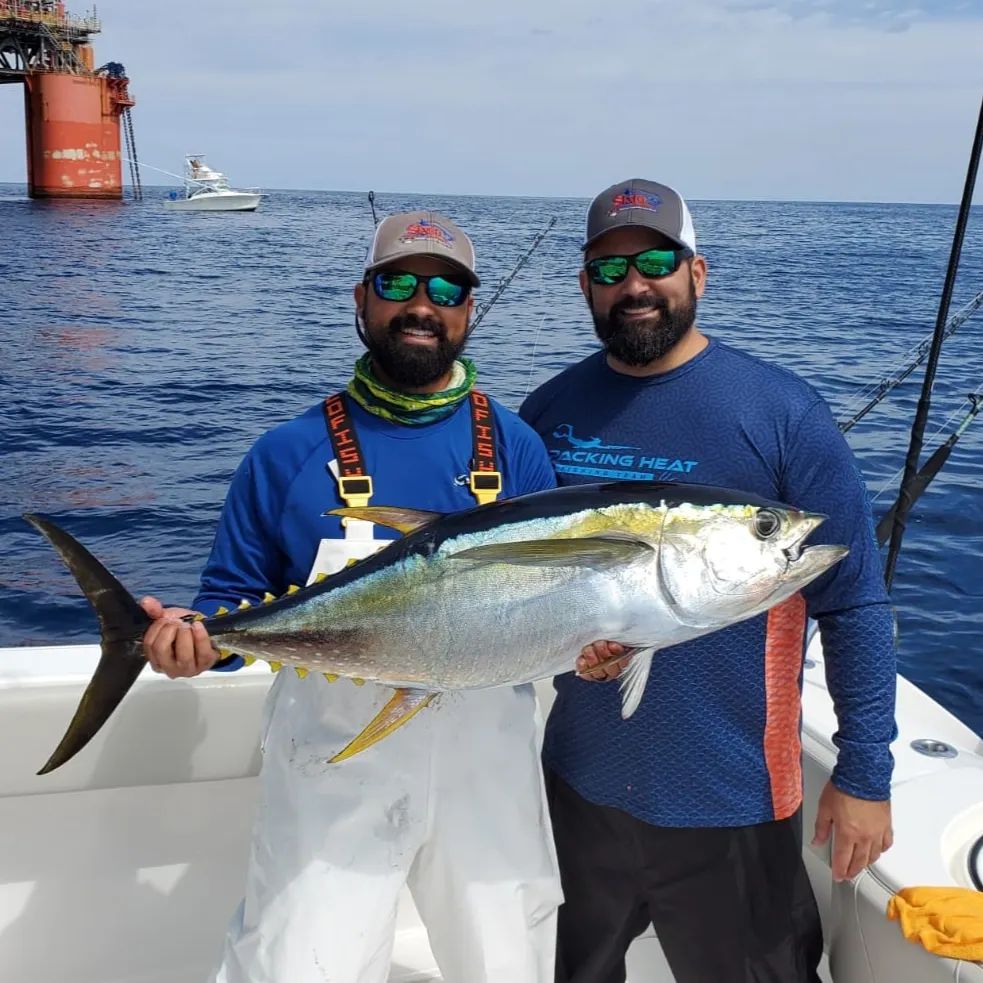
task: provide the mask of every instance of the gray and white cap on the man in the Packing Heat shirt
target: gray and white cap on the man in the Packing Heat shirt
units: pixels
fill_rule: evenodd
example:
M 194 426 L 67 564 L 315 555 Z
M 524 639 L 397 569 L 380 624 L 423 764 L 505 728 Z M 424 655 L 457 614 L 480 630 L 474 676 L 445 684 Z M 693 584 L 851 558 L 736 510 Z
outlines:
M 582 249 L 612 229 L 640 225 L 661 232 L 696 253 L 693 217 L 682 195 L 667 184 L 629 178 L 602 191 L 587 210 L 587 233 Z

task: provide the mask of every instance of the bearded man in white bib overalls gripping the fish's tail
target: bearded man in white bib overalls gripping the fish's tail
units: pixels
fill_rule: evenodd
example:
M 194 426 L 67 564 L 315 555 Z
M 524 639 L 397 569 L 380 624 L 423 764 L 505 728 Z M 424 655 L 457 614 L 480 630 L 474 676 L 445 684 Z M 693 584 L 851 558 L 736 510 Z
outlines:
M 413 212 L 379 224 L 354 290 L 368 351 L 345 393 L 246 455 L 195 610 L 261 603 L 396 537 L 331 509 L 371 500 L 453 512 L 496 491 L 554 486 L 542 442 L 474 389 L 474 365 L 459 357 L 478 283 L 471 242 L 450 219 Z M 157 619 L 144 640 L 156 670 L 194 676 L 240 663 L 216 664 L 201 624 L 179 620 L 187 609 L 143 604 Z M 560 893 L 532 688 L 445 695 L 386 740 L 329 763 L 392 695 L 277 675 L 221 983 L 383 983 L 405 883 L 448 983 L 551 983 Z

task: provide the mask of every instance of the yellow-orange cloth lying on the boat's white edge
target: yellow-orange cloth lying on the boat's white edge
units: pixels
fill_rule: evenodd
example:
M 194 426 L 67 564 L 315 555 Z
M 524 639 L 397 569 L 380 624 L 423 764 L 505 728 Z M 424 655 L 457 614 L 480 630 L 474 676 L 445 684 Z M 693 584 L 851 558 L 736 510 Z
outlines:
M 887 903 L 909 942 L 949 959 L 983 962 L 983 893 L 965 887 L 906 887 Z

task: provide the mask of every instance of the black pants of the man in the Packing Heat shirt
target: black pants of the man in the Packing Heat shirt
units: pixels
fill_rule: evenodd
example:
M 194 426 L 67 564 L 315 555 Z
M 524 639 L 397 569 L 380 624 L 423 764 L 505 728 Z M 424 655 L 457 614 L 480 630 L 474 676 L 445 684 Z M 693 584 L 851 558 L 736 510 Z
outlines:
M 565 901 L 556 983 L 624 983 L 655 926 L 676 983 L 819 983 L 819 911 L 801 811 L 730 828 L 652 826 L 547 771 Z

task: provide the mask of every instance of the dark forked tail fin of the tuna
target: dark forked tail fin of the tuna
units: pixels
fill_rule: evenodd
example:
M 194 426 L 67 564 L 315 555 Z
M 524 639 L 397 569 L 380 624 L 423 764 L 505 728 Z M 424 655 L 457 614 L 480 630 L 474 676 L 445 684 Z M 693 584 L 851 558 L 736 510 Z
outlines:
M 99 732 L 136 682 L 147 660 L 144 632 L 150 616 L 122 584 L 73 536 L 43 516 L 24 518 L 58 551 L 99 618 L 102 656 L 65 736 L 38 772 L 46 775 L 73 758 Z

